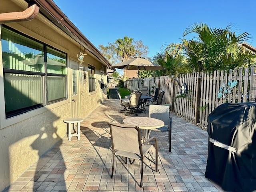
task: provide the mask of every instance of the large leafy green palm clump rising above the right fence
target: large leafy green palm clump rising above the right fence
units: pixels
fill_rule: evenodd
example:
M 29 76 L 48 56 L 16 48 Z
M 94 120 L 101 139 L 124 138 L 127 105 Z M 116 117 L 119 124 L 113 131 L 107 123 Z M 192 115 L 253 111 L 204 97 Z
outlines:
M 193 71 L 212 71 L 239 68 L 250 65 L 255 53 L 242 46 L 250 40 L 250 34 L 237 35 L 232 26 L 212 28 L 204 23 L 193 24 L 183 33 L 181 43 L 166 46 L 165 55 L 176 58 L 180 54 L 188 58 Z M 185 39 L 188 34 L 196 34 L 192 40 Z

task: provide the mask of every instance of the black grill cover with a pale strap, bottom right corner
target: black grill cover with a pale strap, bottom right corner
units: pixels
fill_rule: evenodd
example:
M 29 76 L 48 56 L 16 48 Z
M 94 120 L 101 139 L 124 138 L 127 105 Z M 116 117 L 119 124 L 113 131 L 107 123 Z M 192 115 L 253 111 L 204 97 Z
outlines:
M 226 103 L 208 118 L 209 137 L 236 148 L 208 144 L 205 176 L 228 191 L 256 190 L 256 103 Z

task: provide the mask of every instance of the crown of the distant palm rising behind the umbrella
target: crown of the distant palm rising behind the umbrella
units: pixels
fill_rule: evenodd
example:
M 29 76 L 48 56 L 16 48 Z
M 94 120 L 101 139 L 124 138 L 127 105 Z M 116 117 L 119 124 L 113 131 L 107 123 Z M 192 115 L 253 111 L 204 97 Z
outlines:
M 126 61 L 134 55 L 135 47 L 132 44 L 133 38 L 129 38 L 128 36 L 124 36 L 124 38 L 119 38 L 116 40 L 117 48 L 116 52 L 118 56 L 120 56 L 120 60 Z

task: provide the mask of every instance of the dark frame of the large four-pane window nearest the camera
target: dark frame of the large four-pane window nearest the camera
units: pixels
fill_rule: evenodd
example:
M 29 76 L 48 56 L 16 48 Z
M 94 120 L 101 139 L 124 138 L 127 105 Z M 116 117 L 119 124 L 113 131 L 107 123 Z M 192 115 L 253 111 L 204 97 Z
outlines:
M 9 112 L 9 114 L 7 114 L 5 112 L 6 120 L 9 119 L 9 118 L 24 114 L 26 112 L 29 112 L 31 110 L 42 108 L 44 106 L 48 106 L 50 104 L 54 104 L 56 102 L 60 102 L 60 101 L 68 99 L 68 72 L 67 72 L 67 74 L 54 74 L 54 73 L 48 73 L 47 72 L 47 47 L 52 48 L 56 51 L 59 51 L 62 54 L 65 54 L 65 56 L 66 56 L 66 69 L 68 69 L 68 55 L 65 52 L 63 52 L 62 50 L 59 50 L 59 49 L 57 49 L 57 48 L 55 48 L 55 47 L 53 47 L 49 44 L 46 44 L 46 43 L 44 43 L 40 40 L 37 40 L 37 39 L 33 38 L 31 36 L 28 36 L 27 34 L 24 34 L 24 33 L 14 29 L 14 28 L 11 28 L 9 26 L 1 24 L 0 28 L 2 28 L 2 27 L 6 28 L 7 30 L 10 30 L 10 31 L 12 31 L 12 32 L 14 32 L 14 33 L 16 33 L 20 36 L 24 36 L 25 38 L 29 38 L 29 39 L 31 39 L 35 42 L 38 42 L 38 43 L 42 44 L 43 45 L 43 52 L 44 52 L 44 72 L 32 72 L 32 71 L 26 71 L 26 70 L 8 69 L 8 68 L 4 68 L 4 66 L 2 65 L 3 77 L 5 77 L 6 73 L 43 76 L 43 104 L 36 104 L 36 105 L 29 106 L 29 107 L 26 107 L 26 108 L 13 110 L 12 112 Z M 1 35 L 2 35 L 2 30 L 1 30 Z M 2 39 L 1 39 L 1 41 L 2 41 Z M 1 52 L 2 52 L 2 47 L 1 47 Z M 2 56 L 2 53 L 1 53 L 1 56 Z M 48 76 L 62 76 L 62 77 L 65 77 L 66 97 L 56 99 L 56 100 L 52 100 L 52 101 L 48 102 L 48 88 L 47 88 L 47 77 Z M 4 79 L 3 79 L 3 81 L 4 81 Z M 4 90 L 4 87 L 3 87 L 3 90 Z M 4 106 L 5 106 L 5 102 L 4 102 Z

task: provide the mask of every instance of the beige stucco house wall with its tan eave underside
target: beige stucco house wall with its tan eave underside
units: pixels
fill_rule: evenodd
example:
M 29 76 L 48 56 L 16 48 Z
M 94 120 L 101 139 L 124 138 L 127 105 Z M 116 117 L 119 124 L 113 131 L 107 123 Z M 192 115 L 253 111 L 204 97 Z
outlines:
M 27 6 L 23 0 L 1 0 L 0 4 L 0 13 L 22 11 Z M 56 142 L 61 142 L 62 138 L 66 137 L 66 124 L 63 120 L 71 117 L 72 110 L 70 61 L 76 61 L 77 53 L 80 52 L 80 45 L 77 42 L 41 14 L 38 14 L 34 20 L 29 22 L 6 25 L 67 54 L 68 98 L 6 119 L 4 110 L 2 110 L 4 109 L 4 86 L 0 42 L 0 191 L 16 181 L 28 167 L 34 164 Z M 82 118 L 90 114 L 106 98 L 106 88 L 101 89 L 100 87 L 102 81 L 101 70 L 104 74 L 104 84 L 107 84 L 106 66 L 103 66 L 102 63 L 89 54 L 84 57 L 83 65 L 86 69 L 88 69 L 88 64 L 96 68 L 96 91 L 89 93 L 88 71 L 86 71 L 86 80 L 80 81 L 78 78 L 78 110 Z

